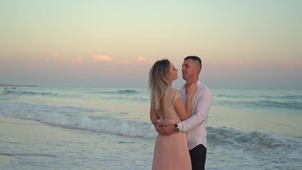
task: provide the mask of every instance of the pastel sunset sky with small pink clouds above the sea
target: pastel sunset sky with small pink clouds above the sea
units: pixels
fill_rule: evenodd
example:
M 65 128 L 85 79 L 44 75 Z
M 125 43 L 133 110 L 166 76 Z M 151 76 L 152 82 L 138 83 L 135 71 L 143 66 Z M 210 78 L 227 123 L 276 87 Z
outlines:
M 302 90 L 302 1 L 0 1 L 0 84 L 147 87 L 202 59 L 209 88 Z

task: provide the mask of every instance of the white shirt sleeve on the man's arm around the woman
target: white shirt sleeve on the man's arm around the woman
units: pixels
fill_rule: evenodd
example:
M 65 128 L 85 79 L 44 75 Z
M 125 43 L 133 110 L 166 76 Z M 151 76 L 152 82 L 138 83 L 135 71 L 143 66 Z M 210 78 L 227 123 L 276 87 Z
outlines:
M 213 102 L 213 96 L 209 89 L 202 92 L 197 99 L 196 110 L 193 115 L 188 119 L 177 123 L 180 131 L 189 131 L 196 128 L 198 125 L 203 123 L 206 116 L 209 114 L 211 104 Z

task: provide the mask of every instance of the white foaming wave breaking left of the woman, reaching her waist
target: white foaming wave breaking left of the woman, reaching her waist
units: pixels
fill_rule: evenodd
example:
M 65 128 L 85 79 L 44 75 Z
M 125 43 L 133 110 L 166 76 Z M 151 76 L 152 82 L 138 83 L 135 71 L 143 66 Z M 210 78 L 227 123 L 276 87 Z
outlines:
M 82 129 L 101 133 L 143 138 L 156 137 L 154 126 L 136 120 L 73 114 L 93 110 L 73 107 L 49 107 L 26 103 L 0 102 L 0 114 L 9 117 L 36 120 L 63 128 Z

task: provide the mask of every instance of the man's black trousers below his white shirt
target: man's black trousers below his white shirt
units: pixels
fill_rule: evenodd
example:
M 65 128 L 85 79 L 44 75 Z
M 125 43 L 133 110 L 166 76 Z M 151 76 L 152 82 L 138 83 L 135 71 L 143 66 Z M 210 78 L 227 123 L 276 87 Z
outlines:
M 207 148 L 203 144 L 199 144 L 189 150 L 192 170 L 204 169 L 204 164 L 206 163 Z

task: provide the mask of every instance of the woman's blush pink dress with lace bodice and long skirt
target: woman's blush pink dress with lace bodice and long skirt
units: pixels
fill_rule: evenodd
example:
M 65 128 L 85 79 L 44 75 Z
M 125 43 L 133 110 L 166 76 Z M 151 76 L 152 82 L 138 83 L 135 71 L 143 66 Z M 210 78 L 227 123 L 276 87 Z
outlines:
M 164 123 L 175 124 L 181 121 L 174 109 L 175 100 L 179 97 L 180 94 L 175 88 L 168 88 L 165 91 L 164 114 L 159 115 Z M 185 132 L 176 132 L 173 135 L 158 134 L 155 141 L 152 169 L 191 169 Z

